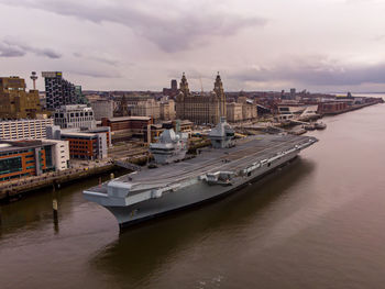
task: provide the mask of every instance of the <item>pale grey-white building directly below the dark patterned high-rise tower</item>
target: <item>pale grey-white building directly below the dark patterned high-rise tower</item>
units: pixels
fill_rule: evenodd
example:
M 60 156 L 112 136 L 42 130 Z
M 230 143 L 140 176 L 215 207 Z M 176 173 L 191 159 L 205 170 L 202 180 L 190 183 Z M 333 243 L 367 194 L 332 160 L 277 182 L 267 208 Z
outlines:
M 86 104 L 62 105 L 55 111 L 55 125 L 62 129 L 96 127 L 94 110 Z

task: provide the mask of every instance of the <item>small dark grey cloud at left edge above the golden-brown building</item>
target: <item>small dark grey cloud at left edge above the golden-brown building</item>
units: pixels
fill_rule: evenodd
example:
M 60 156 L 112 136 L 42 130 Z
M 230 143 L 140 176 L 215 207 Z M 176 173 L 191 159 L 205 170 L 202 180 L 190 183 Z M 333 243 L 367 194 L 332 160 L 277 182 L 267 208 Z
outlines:
M 0 42 L 0 57 L 21 57 L 26 53 L 33 53 L 48 58 L 61 58 L 61 54 L 51 48 L 37 48 L 14 40 L 3 40 Z

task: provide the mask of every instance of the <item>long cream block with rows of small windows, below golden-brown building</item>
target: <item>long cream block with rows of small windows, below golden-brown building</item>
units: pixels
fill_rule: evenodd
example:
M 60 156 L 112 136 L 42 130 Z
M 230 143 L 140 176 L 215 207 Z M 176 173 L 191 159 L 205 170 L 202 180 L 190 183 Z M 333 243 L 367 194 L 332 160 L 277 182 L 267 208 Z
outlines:
M 54 119 L 0 121 L 0 140 L 45 138 L 46 126 L 53 124 Z

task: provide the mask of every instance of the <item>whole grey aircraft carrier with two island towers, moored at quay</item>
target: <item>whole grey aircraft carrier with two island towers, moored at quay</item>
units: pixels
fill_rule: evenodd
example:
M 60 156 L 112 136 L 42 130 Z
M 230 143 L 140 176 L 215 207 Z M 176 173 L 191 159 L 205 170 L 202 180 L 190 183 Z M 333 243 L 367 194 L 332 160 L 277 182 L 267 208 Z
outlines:
M 150 151 L 157 168 L 144 168 L 84 191 L 87 200 L 106 207 L 120 227 L 206 202 L 239 190 L 294 159 L 317 138 L 260 135 L 233 140 L 224 120 L 211 130 L 212 146 L 195 158 L 179 160 L 186 135 L 172 129 Z M 174 149 L 175 148 L 175 149 Z

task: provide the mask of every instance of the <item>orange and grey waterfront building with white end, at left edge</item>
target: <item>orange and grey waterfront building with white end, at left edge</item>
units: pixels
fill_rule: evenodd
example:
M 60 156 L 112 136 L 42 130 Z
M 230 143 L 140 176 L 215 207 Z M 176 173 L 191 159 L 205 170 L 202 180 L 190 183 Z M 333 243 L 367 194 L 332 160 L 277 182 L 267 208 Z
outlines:
M 68 168 L 68 142 L 0 141 L 0 181 Z

